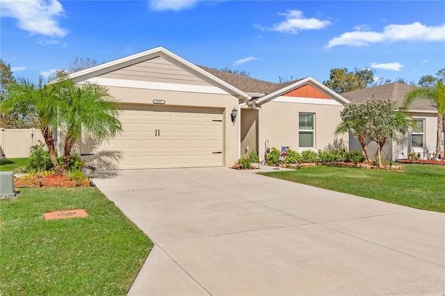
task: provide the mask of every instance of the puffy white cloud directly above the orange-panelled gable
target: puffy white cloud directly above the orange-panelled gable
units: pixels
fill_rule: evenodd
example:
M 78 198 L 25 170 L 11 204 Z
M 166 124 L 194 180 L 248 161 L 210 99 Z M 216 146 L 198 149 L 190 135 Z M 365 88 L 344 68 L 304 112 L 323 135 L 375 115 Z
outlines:
M 286 17 L 286 20 L 278 24 L 273 24 L 273 26 L 268 28 L 258 25 L 257 28 L 261 28 L 263 31 L 296 34 L 300 30 L 318 30 L 332 24 L 330 21 L 322 21 L 314 17 L 307 19 L 303 17 L 303 13 L 300 10 L 288 10 L 287 13 L 278 13 L 278 15 Z

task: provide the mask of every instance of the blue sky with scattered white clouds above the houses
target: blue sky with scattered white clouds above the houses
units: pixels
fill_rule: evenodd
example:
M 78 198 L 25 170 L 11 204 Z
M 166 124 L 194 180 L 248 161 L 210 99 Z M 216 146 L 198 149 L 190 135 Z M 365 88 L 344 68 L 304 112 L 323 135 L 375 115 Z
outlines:
M 0 0 L 1 51 L 15 76 L 162 46 L 196 65 L 271 82 L 332 68 L 419 81 L 445 67 L 445 1 Z

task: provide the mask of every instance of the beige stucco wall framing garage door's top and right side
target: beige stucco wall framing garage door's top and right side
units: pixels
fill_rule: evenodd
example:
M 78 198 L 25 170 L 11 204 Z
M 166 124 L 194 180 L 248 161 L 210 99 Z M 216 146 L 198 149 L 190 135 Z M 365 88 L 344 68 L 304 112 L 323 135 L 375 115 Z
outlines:
M 121 104 L 140 104 L 155 108 L 217 108 L 223 110 L 223 165 L 232 166 L 238 159 L 238 124 L 232 123 L 230 113 L 238 108 L 238 98 L 231 94 L 209 94 L 197 92 L 176 92 L 166 90 L 148 90 L 140 88 L 108 87 L 113 97 Z M 153 100 L 163 100 L 165 104 L 154 104 Z

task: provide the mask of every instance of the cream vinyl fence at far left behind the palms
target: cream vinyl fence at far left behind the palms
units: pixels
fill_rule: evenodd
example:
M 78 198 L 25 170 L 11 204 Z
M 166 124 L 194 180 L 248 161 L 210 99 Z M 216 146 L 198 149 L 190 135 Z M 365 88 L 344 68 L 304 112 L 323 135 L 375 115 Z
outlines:
M 40 129 L 1 129 L 1 158 L 25 158 L 29 148 L 44 143 Z

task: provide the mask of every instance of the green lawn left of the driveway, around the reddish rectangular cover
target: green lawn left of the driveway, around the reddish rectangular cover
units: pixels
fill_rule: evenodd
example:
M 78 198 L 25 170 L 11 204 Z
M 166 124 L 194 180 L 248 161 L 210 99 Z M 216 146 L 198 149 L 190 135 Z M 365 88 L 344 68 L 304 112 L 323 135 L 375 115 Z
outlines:
M 76 208 L 89 216 L 42 217 Z M 124 295 L 152 249 L 97 188 L 24 188 L 0 217 L 0 295 Z

